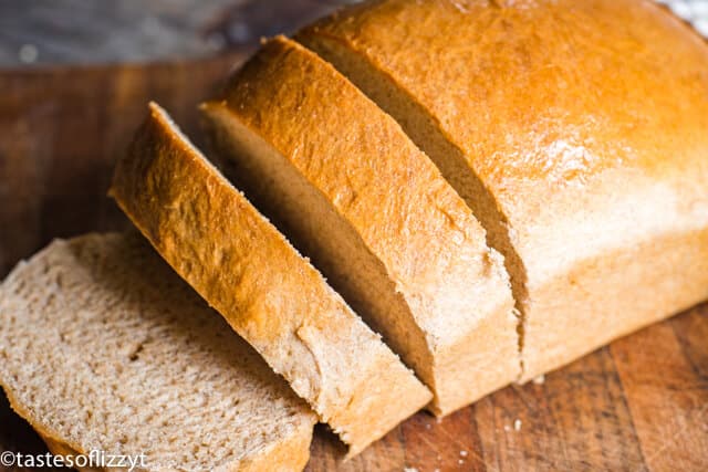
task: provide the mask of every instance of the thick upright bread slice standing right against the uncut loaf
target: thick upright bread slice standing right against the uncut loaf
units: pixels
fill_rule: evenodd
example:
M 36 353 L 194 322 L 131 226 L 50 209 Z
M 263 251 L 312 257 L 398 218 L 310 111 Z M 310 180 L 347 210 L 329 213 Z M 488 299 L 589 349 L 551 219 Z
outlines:
M 244 186 L 435 392 L 446 415 L 516 380 L 502 258 L 400 127 L 275 38 L 202 107 Z

